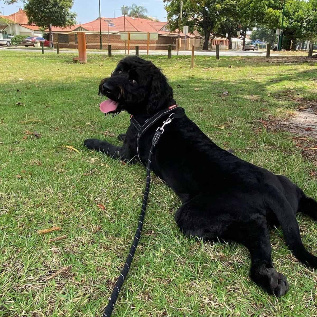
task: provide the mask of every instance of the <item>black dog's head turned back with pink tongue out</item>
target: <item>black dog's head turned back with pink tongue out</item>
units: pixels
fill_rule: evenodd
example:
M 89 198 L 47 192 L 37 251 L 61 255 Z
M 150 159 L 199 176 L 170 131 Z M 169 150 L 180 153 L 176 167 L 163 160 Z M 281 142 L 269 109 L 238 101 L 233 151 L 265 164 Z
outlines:
M 100 104 L 104 113 L 154 114 L 175 104 L 173 89 L 151 61 L 138 56 L 122 59 L 111 77 L 100 82 L 99 94 L 109 99 Z

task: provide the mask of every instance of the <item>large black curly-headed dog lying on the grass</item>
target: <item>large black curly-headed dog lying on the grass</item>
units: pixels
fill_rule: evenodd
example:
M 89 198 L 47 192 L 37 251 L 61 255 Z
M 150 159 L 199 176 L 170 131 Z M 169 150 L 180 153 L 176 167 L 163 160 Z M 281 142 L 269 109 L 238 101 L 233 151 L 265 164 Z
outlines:
M 136 56 L 121 60 L 111 77 L 101 81 L 99 93 L 109 98 L 101 103 L 101 111 L 114 115 L 126 110 L 140 124 L 175 104 L 173 90 L 159 68 Z M 139 156 L 133 124 L 122 147 L 97 139 L 87 139 L 84 144 L 112 158 L 133 162 L 139 157 L 146 162 L 155 130 L 166 119 L 162 118 L 139 140 Z M 184 234 L 244 244 L 251 254 L 251 278 L 276 296 L 287 293 L 288 282 L 273 267 L 270 225 L 281 225 L 294 255 L 317 268 L 317 257 L 303 246 L 295 218 L 300 211 L 317 220 L 314 199 L 288 178 L 219 148 L 186 116 L 174 119 L 165 130 L 151 167 L 183 203 L 175 220 Z

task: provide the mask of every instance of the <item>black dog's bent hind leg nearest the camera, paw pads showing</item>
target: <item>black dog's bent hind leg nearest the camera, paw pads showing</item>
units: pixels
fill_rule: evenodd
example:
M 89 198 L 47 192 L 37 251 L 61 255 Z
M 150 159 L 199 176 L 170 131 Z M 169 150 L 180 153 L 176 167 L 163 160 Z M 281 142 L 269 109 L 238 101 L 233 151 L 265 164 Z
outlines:
M 177 210 L 175 220 L 187 236 L 244 244 L 251 253 L 251 278 L 268 293 L 284 295 L 288 291 L 288 282 L 273 268 L 265 216 L 255 212 L 252 217 L 241 220 L 242 213 L 228 210 L 232 208 L 228 201 L 230 197 L 197 195 Z

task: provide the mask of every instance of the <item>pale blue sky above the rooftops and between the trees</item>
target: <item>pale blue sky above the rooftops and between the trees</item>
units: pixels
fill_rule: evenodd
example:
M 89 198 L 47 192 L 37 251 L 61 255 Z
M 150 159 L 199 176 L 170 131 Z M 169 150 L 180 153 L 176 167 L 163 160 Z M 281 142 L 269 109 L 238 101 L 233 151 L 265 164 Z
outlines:
M 156 16 L 160 21 L 166 21 L 163 0 L 122 0 L 121 2 L 118 0 L 100 0 L 101 16 L 112 18 L 113 9 L 120 9 L 123 5 L 130 7 L 132 3 L 144 6 L 149 11 L 148 16 Z M 5 5 L 0 0 L 0 11 L 4 11 L 6 16 L 18 11 L 18 6 L 23 7 L 23 2 Z M 98 0 L 74 0 L 72 11 L 77 13 L 77 23 L 90 22 L 99 17 L 99 2 Z M 121 16 L 121 9 L 115 10 L 115 16 Z

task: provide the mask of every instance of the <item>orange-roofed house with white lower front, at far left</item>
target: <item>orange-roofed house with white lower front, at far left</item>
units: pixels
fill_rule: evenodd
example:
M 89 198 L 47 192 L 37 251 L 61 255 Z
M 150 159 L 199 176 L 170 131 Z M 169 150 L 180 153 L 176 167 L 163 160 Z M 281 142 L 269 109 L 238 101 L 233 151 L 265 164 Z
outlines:
M 43 32 L 35 24 L 28 23 L 28 17 L 25 11 L 21 8 L 18 12 L 12 13 L 9 16 L 0 16 L 6 20 L 11 20 L 12 23 L 0 25 L 3 37 L 11 35 L 27 35 L 27 36 L 42 36 Z

